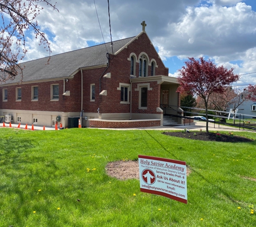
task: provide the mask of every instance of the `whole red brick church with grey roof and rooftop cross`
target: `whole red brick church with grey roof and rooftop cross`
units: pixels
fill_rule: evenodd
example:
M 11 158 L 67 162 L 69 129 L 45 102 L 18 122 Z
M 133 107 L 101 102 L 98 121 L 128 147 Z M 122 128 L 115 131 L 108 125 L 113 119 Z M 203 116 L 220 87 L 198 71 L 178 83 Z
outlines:
M 41 126 L 78 118 L 84 127 L 162 125 L 161 104 L 179 104 L 178 82 L 142 25 L 136 37 L 21 63 L 22 81 L 0 84 L 0 116 Z

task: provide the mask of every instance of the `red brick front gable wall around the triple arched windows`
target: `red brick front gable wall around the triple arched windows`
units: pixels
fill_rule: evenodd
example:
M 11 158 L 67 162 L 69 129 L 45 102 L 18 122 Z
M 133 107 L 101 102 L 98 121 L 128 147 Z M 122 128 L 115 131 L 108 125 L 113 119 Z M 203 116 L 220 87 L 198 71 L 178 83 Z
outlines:
M 130 112 L 130 104 L 120 104 L 121 91 L 117 90 L 119 83 L 130 84 L 130 53 L 135 53 L 137 58 L 141 52 L 146 52 L 151 59 L 155 59 L 158 68 L 155 69 L 155 75 L 168 76 L 168 68 L 165 68 L 161 59 L 147 35 L 143 33 L 139 39 L 135 39 L 127 48 L 124 48 L 119 54 L 113 56 L 109 61 L 109 68 L 106 73 L 111 73 L 111 78 L 103 78 L 101 80 L 101 90 L 107 90 L 107 96 L 99 97 L 100 113 L 128 113 Z M 112 55 L 111 55 L 112 57 Z M 150 75 L 151 66 L 148 66 L 148 75 Z M 136 77 L 139 77 L 139 63 L 136 63 Z M 133 84 L 132 90 L 132 112 L 133 113 L 159 113 L 156 108 L 160 107 L 160 84 L 157 82 L 150 82 L 152 91 L 148 91 L 148 109 L 139 110 L 139 91 L 134 91 L 135 85 Z M 97 109 L 97 108 L 96 108 Z

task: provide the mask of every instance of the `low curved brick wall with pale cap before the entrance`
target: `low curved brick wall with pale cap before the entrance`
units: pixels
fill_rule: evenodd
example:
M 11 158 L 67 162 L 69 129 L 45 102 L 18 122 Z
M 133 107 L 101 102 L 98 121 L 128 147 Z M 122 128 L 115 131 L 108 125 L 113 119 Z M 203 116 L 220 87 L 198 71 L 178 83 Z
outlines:
M 99 127 L 99 128 L 131 128 L 131 127 L 154 127 L 160 126 L 160 120 L 143 120 L 143 121 L 100 121 L 100 120 L 89 120 L 89 127 Z

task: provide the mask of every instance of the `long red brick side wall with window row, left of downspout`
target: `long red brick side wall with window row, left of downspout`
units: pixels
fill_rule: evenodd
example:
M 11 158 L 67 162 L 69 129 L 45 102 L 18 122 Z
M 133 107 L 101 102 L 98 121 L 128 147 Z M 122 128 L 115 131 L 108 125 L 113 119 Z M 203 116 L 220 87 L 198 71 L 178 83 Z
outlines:
M 71 90 L 71 96 L 63 96 L 63 80 L 18 84 L 2 87 L 8 89 L 8 101 L 2 102 L 1 109 L 38 110 L 38 111 L 80 111 L 81 109 L 81 78 L 68 80 L 65 90 Z M 51 84 L 59 84 L 59 101 L 51 101 Z M 38 86 L 38 101 L 31 101 L 32 86 Z M 22 89 L 22 100 L 16 102 L 16 88 Z M 0 91 L 0 93 L 1 93 Z M 3 93 L 3 92 L 2 92 Z

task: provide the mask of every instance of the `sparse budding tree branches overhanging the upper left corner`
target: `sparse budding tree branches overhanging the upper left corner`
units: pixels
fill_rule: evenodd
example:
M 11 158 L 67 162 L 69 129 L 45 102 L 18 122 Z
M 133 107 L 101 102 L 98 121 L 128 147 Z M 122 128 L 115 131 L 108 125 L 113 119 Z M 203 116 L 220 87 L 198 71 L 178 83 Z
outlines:
M 39 30 L 36 20 L 40 10 L 43 10 L 41 4 L 57 10 L 50 2 L 51 0 L 0 0 L 0 83 L 14 79 L 19 72 L 22 73 L 19 61 L 27 52 L 26 30 L 34 31 L 35 37 L 39 38 L 39 45 L 44 45 L 50 55 L 50 42 L 45 33 Z

